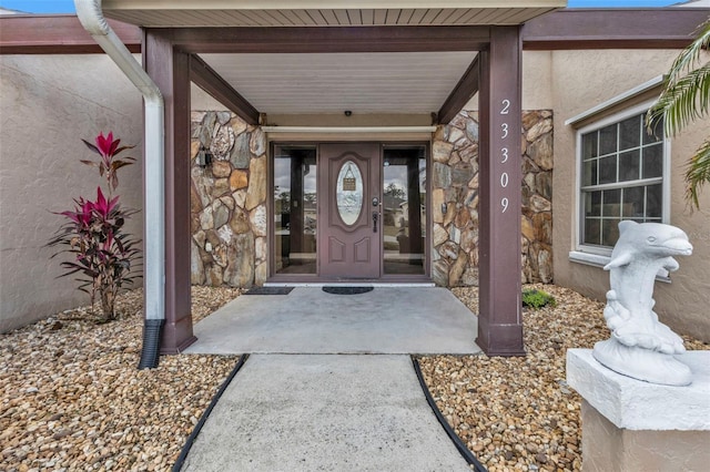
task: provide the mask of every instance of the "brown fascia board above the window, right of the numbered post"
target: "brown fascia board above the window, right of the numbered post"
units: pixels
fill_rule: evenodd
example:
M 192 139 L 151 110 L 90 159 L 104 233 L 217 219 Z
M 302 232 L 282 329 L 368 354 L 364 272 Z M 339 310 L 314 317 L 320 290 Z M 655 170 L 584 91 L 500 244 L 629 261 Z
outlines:
M 523 27 L 526 50 L 682 49 L 708 19 L 707 8 L 574 9 Z

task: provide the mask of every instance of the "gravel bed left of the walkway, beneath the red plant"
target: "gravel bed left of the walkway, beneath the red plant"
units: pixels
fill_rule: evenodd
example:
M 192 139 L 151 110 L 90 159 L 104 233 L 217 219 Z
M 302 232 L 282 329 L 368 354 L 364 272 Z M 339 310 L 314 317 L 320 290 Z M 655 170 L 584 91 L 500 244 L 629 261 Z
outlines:
M 239 295 L 193 287 L 193 314 Z M 239 359 L 164 356 L 139 371 L 142 297 L 120 296 L 118 321 L 84 307 L 0 336 L 0 470 L 172 468 Z

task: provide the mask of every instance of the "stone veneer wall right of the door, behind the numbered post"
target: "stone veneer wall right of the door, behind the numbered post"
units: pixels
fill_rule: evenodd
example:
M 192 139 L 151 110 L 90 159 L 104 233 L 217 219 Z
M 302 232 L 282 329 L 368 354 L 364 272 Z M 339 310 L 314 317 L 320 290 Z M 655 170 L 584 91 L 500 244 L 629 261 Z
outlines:
M 552 112 L 523 112 L 523 283 L 552 281 Z M 432 146 L 432 278 L 478 285 L 478 112 L 439 126 Z M 446 213 L 442 205 L 446 204 Z

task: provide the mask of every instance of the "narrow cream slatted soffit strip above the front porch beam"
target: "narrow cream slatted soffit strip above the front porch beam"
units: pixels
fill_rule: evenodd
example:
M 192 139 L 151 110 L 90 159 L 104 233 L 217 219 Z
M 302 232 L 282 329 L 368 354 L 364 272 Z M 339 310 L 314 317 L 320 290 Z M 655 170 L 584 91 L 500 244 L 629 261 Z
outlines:
M 104 0 L 108 18 L 142 27 L 521 24 L 567 0 Z

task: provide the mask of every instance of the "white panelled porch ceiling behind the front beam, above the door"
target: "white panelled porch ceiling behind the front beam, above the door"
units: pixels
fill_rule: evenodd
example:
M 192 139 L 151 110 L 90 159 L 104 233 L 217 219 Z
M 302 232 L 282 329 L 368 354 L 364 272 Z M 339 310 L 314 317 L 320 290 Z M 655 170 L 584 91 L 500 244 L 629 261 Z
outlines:
M 200 54 L 260 112 L 437 112 L 475 52 Z

